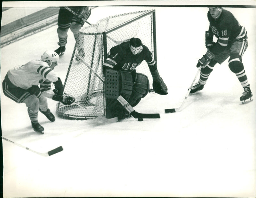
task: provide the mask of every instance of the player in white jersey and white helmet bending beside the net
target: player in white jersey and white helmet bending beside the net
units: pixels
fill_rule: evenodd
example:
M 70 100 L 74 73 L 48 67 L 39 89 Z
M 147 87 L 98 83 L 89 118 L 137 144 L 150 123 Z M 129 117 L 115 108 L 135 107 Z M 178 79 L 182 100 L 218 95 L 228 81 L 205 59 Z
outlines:
M 38 123 L 38 110 L 51 122 L 55 121 L 54 115 L 48 109 L 46 97 L 64 104 L 71 104 L 75 101 L 73 96 L 63 95 L 62 82 L 53 71 L 59 59 L 56 52 L 47 50 L 41 56 L 41 60 L 32 60 L 10 69 L 2 83 L 4 95 L 16 103 L 26 104 L 31 125 L 35 131 L 40 133 L 44 133 L 44 127 Z M 54 90 L 51 89 L 52 82 Z

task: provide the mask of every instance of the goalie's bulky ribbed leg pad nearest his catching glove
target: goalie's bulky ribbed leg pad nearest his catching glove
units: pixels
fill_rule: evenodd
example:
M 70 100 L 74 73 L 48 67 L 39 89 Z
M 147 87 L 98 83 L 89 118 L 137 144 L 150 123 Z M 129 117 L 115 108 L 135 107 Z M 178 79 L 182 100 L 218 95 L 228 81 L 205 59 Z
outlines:
M 128 101 L 132 107 L 136 106 L 141 98 L 144 98 L 149 91 L 148 77 L 142 73 L 137 73 L 135 83 L 132 89 L 132 95 Z

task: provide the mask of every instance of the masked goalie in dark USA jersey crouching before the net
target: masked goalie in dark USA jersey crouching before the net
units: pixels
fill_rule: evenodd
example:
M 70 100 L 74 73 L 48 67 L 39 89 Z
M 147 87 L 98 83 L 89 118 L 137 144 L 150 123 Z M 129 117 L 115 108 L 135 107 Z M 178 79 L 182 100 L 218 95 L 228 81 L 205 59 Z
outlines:
M 139 67 L 143 60 L 147 62 L 152 75 L 154 91 L 160 95 L 168 94 L 167 87 L 158 73 L 156 60 L 139 38 L 131 38 L 130 41 L 112 47 L 103 64 L 105 81 L 107 71 L 118 71 L 119 95 L 122 95 L 132 107 L 136 106 L 149 91 L 148 77 L 136 72 L 136 67 Z M 105 86 L 105 91 L 106 89 Z M 108 98 L 106 95 L 105 97 L 106 118 L 117 117 L 121 120 L 129 116 L 128 111 L 115 98 Z

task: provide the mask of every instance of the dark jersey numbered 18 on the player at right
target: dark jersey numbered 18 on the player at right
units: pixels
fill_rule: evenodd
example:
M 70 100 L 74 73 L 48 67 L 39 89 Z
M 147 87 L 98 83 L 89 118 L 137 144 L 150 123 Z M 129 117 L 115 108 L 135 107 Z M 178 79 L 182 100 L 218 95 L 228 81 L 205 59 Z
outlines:
M 222 9 L 220 17 L 214 19 L 208 11 L 207 17 L 210 22 L 209 31 L 218 38 L 217 43 L 211 49 L 213 54 L 221 53 L 228 46 L 229 41 L 246 37 L 245 28 L 238 23 L 231 12 Z

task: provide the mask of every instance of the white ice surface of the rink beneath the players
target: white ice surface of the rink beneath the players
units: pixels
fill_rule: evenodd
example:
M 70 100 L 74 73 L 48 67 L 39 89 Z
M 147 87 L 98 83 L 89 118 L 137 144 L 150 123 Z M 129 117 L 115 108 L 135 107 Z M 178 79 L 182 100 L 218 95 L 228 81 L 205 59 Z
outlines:
M 88 21 L 151 9 L 158 70 L 169 94 L 150 93 L 134 109 L 160 113 L 161 119 L 65 120 L 48 99 L 56 121 L 39 112 L 45 130 L 36 133 L 26 105 L 4 96 L 2 81 L 10 68 L 58 48 L 57 25 L 1 49 L 2 136 L 38 152 L 64 149 L 43 157 L 3 140 L 4 197 L 255 197 L 255 8 L 227 8 L 248 32 L 243 64 L 254 100 L 241 104 L 243 88 L 225 61 L 215 65 L 202 91 L 189 95 L 181 112 L 171 114 L 164 109 L 180 106 L 206 52 L 208 9 L 97 7 Z M 69 30 L 55 67 L 62 81 L 74 45 Z

